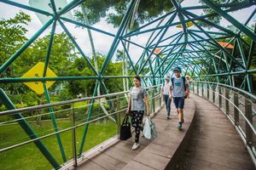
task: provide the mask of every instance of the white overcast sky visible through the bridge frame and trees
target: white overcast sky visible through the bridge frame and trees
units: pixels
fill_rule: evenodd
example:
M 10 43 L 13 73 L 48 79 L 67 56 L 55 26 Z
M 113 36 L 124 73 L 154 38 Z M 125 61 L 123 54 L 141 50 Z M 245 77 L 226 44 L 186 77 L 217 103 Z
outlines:
M 17 0 L 15 2 L 28 5 L 28 0 Z M 41 1 L 41 2 L 44 2 L 44 1 Z M 45 2 L 48 2 L 48 1 L 45 1 Z M 67 2 L 70 2 L 70 1 L 67 0 Z M 195 6 L 198 4 L 199 4 L 198 0 L 185 0 L 182 3 L 183 6 Z M 255 8 L 255 5 L 251 8 L 245 8 L 235 13 L 231 13 L 231 15 L 236 20 L 239 20 L 241 23 L 244 23 L 245 20 L 247 20 L 248 16 L 252 14 L 254 8 Z M 10 6 L 9 4 L 0 3 L 0 11 L 1 11 L 0 18 L 9 19 L 10 17 L 14 17 L 15 14 L 19 12 L 19 10 L 24 11 L 26 14 L 29 14 L 32 17 L 32 22 L 29 24 L 29 26 L 27 26 L 27 29 L 29 31 L 26 34 L 26 37 L 32 37 L 32 35 L 34 35 L 35 32 L 38 31 L 41 26 L 43 26 L 40 20 L 38 20 L 38 16 L 35 13 L 26 9 L 20 9 L 20 8 Z M 201 14 L 201 10 L 196 10 L 196 11 L 194 10 L 193 12 L 195 12 L 195 14 Z M 256 20 L 256 16 L 254 15 L 250 25 L 252 25 L 253 21 L 255 22 L 255 20 Z M 175 21 L 178 21 L 178 19 L 175 19 Z M 71 25 L 71 24 L 65 23 L 65 25 L 67 26 L 68 30 L 73 34 L 73 36 L 77 38 L 77 42 L 79 42 L 80 47 L 84 51 L 84 54 L 90 56 L 91 48 L 90 48 L 90 42 L 89 42 L 87 31 L 85 29 L 75 27 L 74 25 Z M 226 20 L 222 20 L 221 25 L 229 26 L 230 24 Z M 154 26 L 155 25 L 148 26 L 148 28 L 154 27 Z M 94 27 L 102 29 L 103 31 L 111 32 L 111 33 L 115 33 L 117 31 L 116 28 L 113 28 L 113 26 L 108 25 L 104 19 L 102 19 L 99 23 L 95 24 Z M 50 31 L 50 27 L 49 29 L 44 31 L 44 33 L 40 37 L 44 37 L 45 35 L 49 34 L 49 31 Z M 57 26 L 56 32 L 61 32 L 61 31 L 62 31 L 61 26 Z M 167 34 L 170 36 L 177 31 L 181 31 L 181 30 L 176 27 L 172 27 L 172 29 L 170 29 L 167 32 Z M 113 41 L 113 37 L 103 35 L 102 33 L 97 33 L 96 31 L 92 31 L 92 35 L 94 38 L 96 51 L 100 52 L 101 54 L 108 54 L 108 50 L 111 46 L 111 42 Z M 150 34 L 143 34 L 141 36 L 132 37 L 131 40 L 134 42 L 137 42 L 138 44 L 145 45 L 145 43 L 148 40 L 148 36 L 150 36 Z M 120 45 L 119 45 L 119 48 L 121 48 Z M 142 48 L 137 48 L 131 45 L 130 54 L 131 54 L 131 58 L 134 59 L 134 61 L 136 61 L 142 53 L 143 53 Z

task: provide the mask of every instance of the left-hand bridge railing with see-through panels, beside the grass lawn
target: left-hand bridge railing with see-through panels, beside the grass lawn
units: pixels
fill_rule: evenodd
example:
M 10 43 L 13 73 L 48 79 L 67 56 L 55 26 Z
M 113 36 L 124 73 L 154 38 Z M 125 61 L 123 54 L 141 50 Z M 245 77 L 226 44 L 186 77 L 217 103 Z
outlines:
M 147 91 L 150 113 L 154 114 L 162 105 L 160 85 L 149 87 Z M 21 162 L 4 165 L 15 159 L 16 162 L 26 160 L 27 166 L 44 165 L 38 167 L 41 169 L 76 167 L 84 157 L 118 140 L 120 122 L 127 109 L 126 94 L 128 92 L 0 112 L 0 156 L 3 158 L 0 164 L 19 169 Z M 15 115 L 21 117 L 14 118 Z M 20 122 L 26 123 L 25 131 Z M 27 128 L 33 133 L 25 133 Z M 36 147 L 38 141 L 45 148 Z M 45 155 L 48 151 L 51 159 Z

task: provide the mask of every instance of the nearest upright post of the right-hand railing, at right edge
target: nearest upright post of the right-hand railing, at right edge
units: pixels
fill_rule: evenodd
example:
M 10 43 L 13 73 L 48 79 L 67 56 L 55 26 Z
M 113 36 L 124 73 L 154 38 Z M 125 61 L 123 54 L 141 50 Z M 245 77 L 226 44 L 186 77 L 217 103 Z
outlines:
M 249 97 L 245 96 L 245 113 L 249 122 L 253 122 L 252 116 L 252 104 L 248 100 Z M 253 130 L 250 125 L 246 122 L 246 137 L 247 145 L 251 146 L 253 144 Z

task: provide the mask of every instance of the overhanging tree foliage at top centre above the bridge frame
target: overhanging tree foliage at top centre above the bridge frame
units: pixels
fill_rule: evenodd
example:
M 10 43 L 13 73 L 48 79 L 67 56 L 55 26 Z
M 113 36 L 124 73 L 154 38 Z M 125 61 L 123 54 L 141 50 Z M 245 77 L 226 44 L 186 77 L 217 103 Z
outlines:
M 182 1 L 183 0 L 180 0 L 179 2 Z M 93 25 L 106 17 L 109 24 L 118 27 L 130 2 L 131 1 L 128 0 L 88 0 L 84 2 L 83 7 L 87 13 L 90 25 Z M 137 28 L 145 21 L 154 20 L 154 18 L 158 17 L 160 14 L 170 12 L 172 8 L 173 5 L 170 0 L 141 0 L 137 8 L 137 17 L 133 28 Z M 84 22 L 83 14 L 80 11 L 76 11 L 75 16 L 77 20 Z

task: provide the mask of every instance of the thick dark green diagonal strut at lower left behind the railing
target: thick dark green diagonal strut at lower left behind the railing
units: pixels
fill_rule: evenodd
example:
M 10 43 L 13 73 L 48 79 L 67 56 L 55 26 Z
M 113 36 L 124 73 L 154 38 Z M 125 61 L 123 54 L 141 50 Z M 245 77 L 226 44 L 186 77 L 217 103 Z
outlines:
M 9 97 L 4 93 L 3 89 L 0 88 L 0 99 L 9 110 L 15 110 L 15 105 L 9 99 Z M 29 125 L 28 122 L 24 119 L 21 114 L 15 114 L 15 119 L 19 119 L 18 123 L 20 127 L 26 132 L 30 139 L 37 139 L 38 135 L 33 131 L 32 127 Z M 34 144 L 38 146 L 38 149 L 42 152 L 45 158 L 49 161 L 49 163 L 55 167 L 56 169 L 61 167 L 60 164 L 55 160 L 55 157 L 49 152 L 49 150 L 44 146 L 41 140 L 35 140 Z

